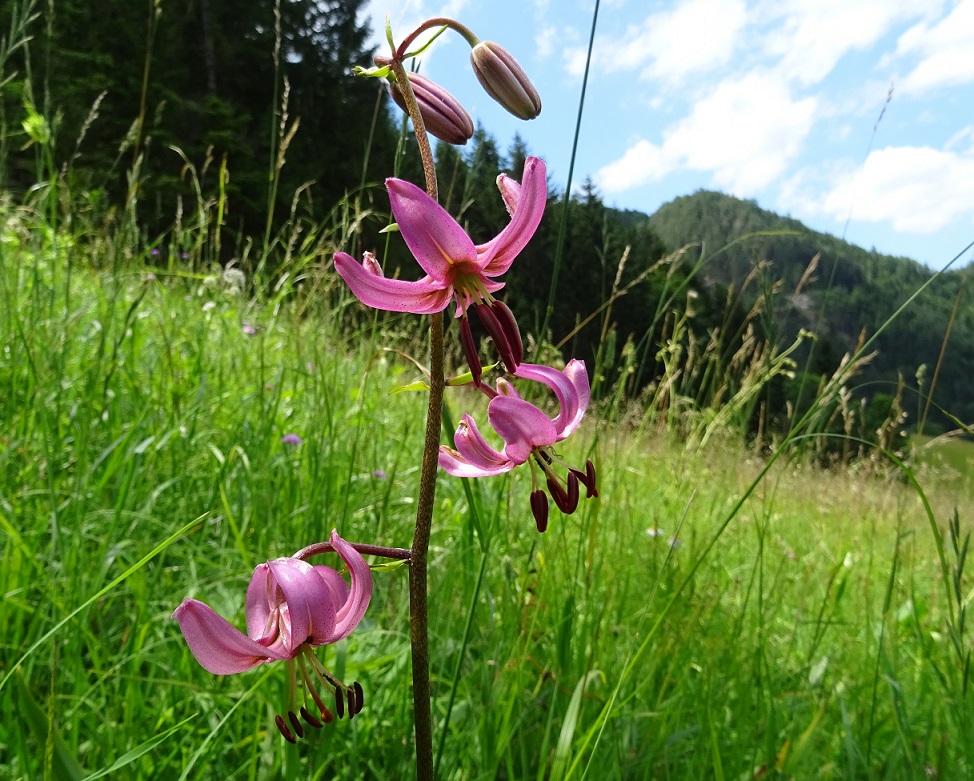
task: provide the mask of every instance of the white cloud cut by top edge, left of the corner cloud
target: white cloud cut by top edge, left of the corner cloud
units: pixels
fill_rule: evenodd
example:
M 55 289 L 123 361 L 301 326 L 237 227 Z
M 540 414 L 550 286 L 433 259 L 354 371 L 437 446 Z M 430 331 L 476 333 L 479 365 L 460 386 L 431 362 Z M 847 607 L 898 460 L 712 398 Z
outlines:
M 938 0 L 768 0 L 755 18 L 770 22 L 763 52 L 779 60 L 778 72 L 817 84 L 846 54 L 867 49 L 898 22 L 916 19 Z

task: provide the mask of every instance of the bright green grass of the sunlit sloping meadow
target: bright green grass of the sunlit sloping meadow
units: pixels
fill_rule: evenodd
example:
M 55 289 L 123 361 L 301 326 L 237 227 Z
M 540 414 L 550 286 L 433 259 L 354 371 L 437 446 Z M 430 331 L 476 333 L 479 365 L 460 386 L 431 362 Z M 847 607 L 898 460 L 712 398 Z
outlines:
M 418 372 L 381 348 L 415 324 L 355 327 L 328 271 L 254 302 L 4 218 L 0 779 L 408 777 L 404 570 L 376 571 L 362 626 L 323 655 L 365 710 L 298 746 L 273 725 L 284 670 L 212 676 L 170 614 L 192 596 L 242 625 L 254 565 L 332 528 L 408 545 L 425 404 L 390 394 Z M 470 397 L 448 402 L 455 420 Z M 443 778 L 974 772 L 970 637 L 891 466 L 782 457 L 762 476 L 735 437 L 590 418 L 565 455 L 593 457 L 601 498 L 544 535 L 526 474 L 440 481 Z M 922 485 L 953 569 L 971 493 Z

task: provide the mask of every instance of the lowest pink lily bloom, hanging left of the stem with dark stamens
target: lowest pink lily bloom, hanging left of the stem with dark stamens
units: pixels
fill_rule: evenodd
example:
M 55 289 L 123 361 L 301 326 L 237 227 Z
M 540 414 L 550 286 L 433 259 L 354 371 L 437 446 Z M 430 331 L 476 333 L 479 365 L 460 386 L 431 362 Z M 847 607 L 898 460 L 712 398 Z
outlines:
M 312 650 L 348 637 L 372 598 L 372 573 L 362 555 L 337 532 L 331 533 L 330 543 L 348 567 L 350 584 L 331 567 L 313 566 L 300 558 L 261 564 L 247 588 L 247 634 L 195 599 L 185 600 L 173 613 L 196 661 L 215 675 L 286 662 L 290 681 L 287 718 L 278 714 L 275 723 L 291 743 L 295 736 L 304 737 L 301 719 L 321 727 L 336 715 L 342 718 L 346 709 L 352 718 L 364 702 L 361 684 L 349 686 L 339 681 Z M 299 676 L 304 685 L 300 706 Z M 321 690 L 334 698 L 334 713 L 325 705 Z

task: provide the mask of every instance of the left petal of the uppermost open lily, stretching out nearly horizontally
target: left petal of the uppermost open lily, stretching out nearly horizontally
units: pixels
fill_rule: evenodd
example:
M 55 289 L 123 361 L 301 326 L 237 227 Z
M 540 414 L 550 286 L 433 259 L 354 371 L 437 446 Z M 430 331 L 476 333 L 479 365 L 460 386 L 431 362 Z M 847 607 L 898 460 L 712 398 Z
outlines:
M 387 312 L 412 312 L 428 315 L 446 309 L 453 296 L 453 288 L 430 277 L 409 282 L 387 279 L 377 271 L 374 259 L 359 263 L 344 252 L 335 253 L 335 269 L 348 284 L 355 297 L 366 306 Z

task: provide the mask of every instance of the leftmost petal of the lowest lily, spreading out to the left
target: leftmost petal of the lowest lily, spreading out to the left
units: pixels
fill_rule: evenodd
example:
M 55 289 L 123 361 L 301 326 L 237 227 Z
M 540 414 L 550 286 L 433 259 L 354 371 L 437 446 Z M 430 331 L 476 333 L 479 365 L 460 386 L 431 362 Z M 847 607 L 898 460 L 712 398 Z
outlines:
M 283 657 L 251 640 L 209 605 L 185 600 L 172 617 L 179 622 L 186 644 L 204 670 L 214 675 L 233 675 Z

